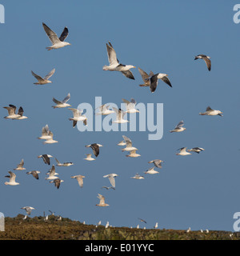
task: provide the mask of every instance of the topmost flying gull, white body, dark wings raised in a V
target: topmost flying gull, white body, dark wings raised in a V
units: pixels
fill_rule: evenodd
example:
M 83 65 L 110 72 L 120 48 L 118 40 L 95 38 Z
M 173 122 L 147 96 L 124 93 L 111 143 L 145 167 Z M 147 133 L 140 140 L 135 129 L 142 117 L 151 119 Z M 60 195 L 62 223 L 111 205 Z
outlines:
M 58 49 L 64 46 L 70 46 L 69 42 L 64 42 L 69 33 L 67 27 L 64 28 L 60 38 L 58 38 L 58 35 L 53 30 L 50 30 L 50 28 L 46 26 L 45 23 L 42 22 L 42 26 L 47 36 L 50 38 L 50 42 L 52 43 L 52 46 L 46 47 L 47 50 Z

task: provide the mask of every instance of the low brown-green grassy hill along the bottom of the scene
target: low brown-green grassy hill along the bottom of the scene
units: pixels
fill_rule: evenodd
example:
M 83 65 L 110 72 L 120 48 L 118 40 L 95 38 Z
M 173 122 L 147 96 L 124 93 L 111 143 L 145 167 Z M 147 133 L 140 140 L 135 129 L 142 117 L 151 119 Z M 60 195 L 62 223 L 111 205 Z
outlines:
M 108 227 L 85 225 L 51 215 L 47 221 L 43 217 L 23 219 L 18 214 L 5 218 L 5 231 L 0 232 L 0 240 L 239 240 L 240 233 L 230 231 L 204 231 L 136 229 L 129 227 Z

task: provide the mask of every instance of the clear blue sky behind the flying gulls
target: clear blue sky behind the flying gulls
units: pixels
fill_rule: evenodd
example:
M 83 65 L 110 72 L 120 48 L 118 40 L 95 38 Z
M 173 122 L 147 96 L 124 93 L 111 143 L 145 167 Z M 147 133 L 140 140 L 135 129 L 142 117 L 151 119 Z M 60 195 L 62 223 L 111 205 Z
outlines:
M 2 1 L 6 23 L 0 24 L 1 106 L 22 106 L 28 119 L 5 120 L 2 107 L 0 211 L 14 217 L 33 206 L 31 216 L 54 211 L 63 217 L 112 226 L 158 222 L 160 228 L 233 230 L 239 205 L 239 31 L 233 22 L 235 1 Z M 50 46 L 42 22 L 57 34 L 64 26 L 71 46 L 47 51 Z M 135 80 L 117 72 L 103 71 L 108 64 L 106 42 L 112 42 L 118 59 L 146 72 L 166 73 L 172 88 L 159 81 L 154 94 Z M 209 72 L 197 54 L 210 55 Z M 31 70 L 40 75 L 56 69 L 52 84 L 35 86 Z M 149 132 L 80 132 L 68 120 L 70 110 L 56 109 L 52 98 L 70 92 L 70 104 L 137 102 L 163 103 L 164 133 L 161 140 L 148 140 Z M 223 117 L 198 115 L 206 106 L 222 110 Z M 186 130 L 170 134 L 183 120 Z M 48 124 L 58 143 L 42 145 L 37 137 Z M 126 158 L 117 143 L 130 137 L 140 158 Z M 92 153 L 85 145 L 103 147 L 94 162 L 83 160 Z M 176 150 L 200 146 L 201 154 L 177 156 Z M 57 190 L 45 180 L 50 168 L 38 159 L 51 154 L 74 166 L 56 167 L 64 182 Z M 26 171 L 40 170 L 39 180 L 16 170 L 20 186 L 5 186 L 8 170 L 24 158 Z M 130 178 L 150 168 L 148 162 L 164 160 L 160 174 L 144 180 Z M 54 158 L 51 163 L 55 164 Z M 102 178 L 116 173 L 116 190 L 102 190 L 110 182 Z M 71 175 L 85 175 L 81 189 Z M 109 207 L 100 208 L 103 194 Z

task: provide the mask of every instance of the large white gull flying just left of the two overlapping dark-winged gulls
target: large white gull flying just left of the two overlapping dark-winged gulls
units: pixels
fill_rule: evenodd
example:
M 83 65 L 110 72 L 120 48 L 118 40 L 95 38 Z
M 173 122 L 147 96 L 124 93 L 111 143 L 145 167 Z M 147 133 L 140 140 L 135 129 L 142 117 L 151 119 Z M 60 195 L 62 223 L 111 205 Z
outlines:
M 106 50 L 107 50 L 107 57 L 108 61 L 110 62 L 109 66 L 103 66 L 102 70 L 109 70 L 109 71 L 120 71 L 123 75 L 126 76 L 126 78 L 135 79 L 134 75 L 130 71 L 130 69 L 135 68 L 135 66 L 132 65 L 123 65 L 119 63 L 116 52 L 114 50 L 114 47 L 106 43 Z

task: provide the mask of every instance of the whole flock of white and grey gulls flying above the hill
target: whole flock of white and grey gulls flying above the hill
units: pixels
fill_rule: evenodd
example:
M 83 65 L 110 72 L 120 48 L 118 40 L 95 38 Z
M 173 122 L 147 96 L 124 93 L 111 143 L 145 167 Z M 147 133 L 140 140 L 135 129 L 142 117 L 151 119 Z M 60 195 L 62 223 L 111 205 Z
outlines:
M 51 46 L 46 47 L 47 50 L 53 50 L 53 49 L 56 50 L 56 49 L 62 48 L 64 46 L 70 45 L 69 42 L 65 42 L 65 39 L 67 38 L 67 36 L 69 34 L 69 30 L 67 29 L 67 27 L 64 28 L 64 30 L 62 31 L 62 34 L 60 35 L 60 37 L 58 37 L 58 35 L 53 30 L 51 30 L 48 26 L 46 26 L 45 23 L 42 23 L 42 26 L 43 26 L 43 29 L 45 30 L 48 38 L 50 38 L 50 42 L 52 44 Z M 112 46 L 112 44 L 110 42 L 106 43 L 106 51 L 107 51 L 109 65 L 103 66 L 102 70 L 118 71 L 118 72 L 121 72 L 126 78 L 130 78 L 130 79 L 134 80 L 135 79 L 134 74 L 130 71 L 130 69 L 135 68 L 135 66 L 125 65 L 125 64 L 120 63 L 118 61 L 117 54 L 114 50 L 114 47 Z M 197 60 L 197 59 L 204 60 L 204 62 L 206 62 L 207 69 L 209 71 L 211 70 L 211 61 L 210 61 L 209 56 L 204 55 L 204 54 L 198 54 L 197 56 L 195 56 L 194 59 L 195 60 Z M 150 71 L 150 73 L 147 74 L 144 70 L 142 70 L 139 67 L 138 67 L 138 71 L 141 74 L 142 81 L 143 81 L 143 84 L 140 84 L 139 86 L 141 86 L 141 87 L 149 86 L 151 93 L 154 93 L 154 91 L 157 89 L 159 79 L 162 80 L 162 82 L 165 82 L 166 85 L 172 87 L 172 84 L 171 84 L 170 79 L 168 78 L 167 74 L 161 74 L 161 73 L 154 74 L 152 71 Z M 40 75 L 35 74 L 33 71 L 31 71 L 31 74 L 34 76 L 34 78 L 36 78 L 38 80 L 38 82 L 34 82 L 34 84 L 46 85 L 48 83 L 52 83 L 49 79 L 54 75 L 54 72 L 55 72 L 55 69 L 51 70 L 49 74 L 46 74 L 46 76 L 41 77 Z M 82 114 L 82 110 L 72 108 L 71 105 L 67 103 L 67 102 L 69 102 L 69 100 L 70 100 L 70 93 L 67 94 L 66 97 L 63 98 L 62 101 L 57 100 L 56 98 L 53 98 L 53 102 L 55 103 L 55 105 L 52 107 L 54 109 L 68 107 L 68 109 L 71 110 L 73 113 L 73 117 L 69 118 L 69 120 L 73 122 L 72 126 L 75 127 L 78 122 L 83 122 L 83 124 L 85 126 L 87 126 L 86 115 Z M 135 108 L 137 102 L 134 100 L 134 98 L 131 98 L 130 101 L 122 98 L 122 101 L 126 104 L 126 111 L 124 111 L 120 108 L 119 109 L 115 108 L 115 107 L 110 108 L 110 106 L 106 106 L 106 104 L 103 104 L 102 106 L 98 107 L 99 111 L 98 111 L 98 113 L 95 113 L 95 114 L 97 114 L 97 115 L 116 114 L 116 120 L 114 120 L 113 122 L 115 122 L 115 123 L 129 122 L 128 120 L 124 119 L 124 116 L 126 113 L 138 113 L 139 112 L 139 110 L 137 110 Z M 19 106 L 18 113 L 16 112 L 17 107 L 12 104 L 10 104 L 9 106 L 4 106 L 4 108 L 8 111 L 8 115 L 5 117 L 6 119 L 22 120 L 22 119 L 27 118 L 26 116 L 23 115 L 24 111 L 23 111 L 22 106 Z M 210 106 L 208 106 L 206 108 L 205 112 L 199 113 L 199 114 L 200 115 L 209 115 L 209 116 L 215 116 L 215 115 L 222 116 L 222 111 L 213 110 L 210 108 Z M 178 125 L 175 126 L 173 130 L 170 130 L 170 133 L 183 132 L 184 130 L 186 130 L 186 128 L 183 126 L 184 126 L 183 121 L 178 122 Z M 133 146 L 131 139 L 127 138 L 125 135 L 122 135 L 122 138 L 123 138 L 123 140 L 121 142 L 118 142 L 117 145 L 118 146 L 126 146 L 125 148 L 122 148 L 122 152 L 129 152 L 129 154 L 127 154 L 126 157 L 130 157 L 130 158 L 140 157 L 141 155 L 137 153 L 138 149 Z M 58 142 L 57 140 L 54 139 L 54 134 L 50 130 L 50 128 L 47 124 L 46 124 L 46 126 L 42 127 L 42 134 L 40 137 L 38 137 L 38 139 L 44 140 L 43 144 L 52 144 L 52 143 Z M 100 147 L 102 147 L 102 145 L 98 144 L 98 143 L 86 145 L 86 148 L 91 148 L 91 150 L 93 150 L 93 154 L 96 158 L 98 157 L 98 155 L 100 153 Z M 201 147 L 194 147 L 190 150 L 187 150 L 186 147 L 182 147 L 181 149 L 179 149 L 179 153 L 177 153 L 177 155 L 186 156 L 186 155 L 191 154 L 190 152 L 195 152 L 195 153 L 199 154 L 202 151 L 204 151 L 204 149 Z M 50 154 L 42 154 L 42 155 L 39 155 L 38 158 L 42 158 L 42 160 L 45 164 L 50 165 L 50 158 L 54 158 L 54 157 Z M 84 158 L 84 159 L 86 161 L 95 161 L 96 158 L 93 158 L 92 154 L 86 154 L 86 158 Z M 74 165 L 73 162 L 61 163 L 58 161 L 57 158 L 55 158 L 55 161 L 56 161 L 56 166 L 72 166 L 72 165 Z M 154 170 L 154 168 L 161 169 L 162 162 L 163 161 L 160 159 L 154 159 L 154 160 L 149 161 L 148 163 L 153 163 L 154 166 L 151 167 L 149 170 L 146 170 L 144 172 L 144 174 L 158 174 L 159 173 L 158 170 Z M 26 168 L 24 168 L 23 166 L 24 166 L 24 160 L 22 159 L 22 161 L 18 164 L 18 166 L 14 170 L 26 170 Z M 5 182 L 5 185 L 10 185 L 10 186 L 19 185 L 19 183 L 16 182 L 16 174 L 14 174 L 14 172 L 12 172 L 10 170 L 9 170 L 9 174 L 10 175 L 6 175 L 6 178 L 9 178 L 9 182 Z M 34 178 L 38 179 L 39 178 L 38 174 L 40 174 L 40 171 L 32 170 L 32 171 L 26 172 L 26 174 L 31 174 Z M 106 190 L 110 190 L 110 189 L 115 190 L 115 178 L 116 177 L 118 177 L 118 174 L 104 175 L 103 178 L 108 178 L 111 186 L 102 186 L 102 188 L 105 188 Z M 78 174 L 78 175 L 71 176 L 70 178 L 76 179 L 78 182 L 78 185 L 82 188 L 83 178 L 85 178 L 85 176 Z M 137 173 L 134 175 L 134 177 L 130 177 L 130 178 L 144 179 L 144 176 Z M 59 189 L 61 183 L 63 182 L 63 180 L 61 178 L 58 178 L 58 173 L 56 173 L 54 165 L 51 166 L 51 169 L 47 173 L 47 177 L 45 179 L 49 180 L 50 183 L 54 183 L 54 186 L 56 186 L 57 189 Z M 99 199 L 99 203 L 96 204 L 96 206 L 101 206 L 101 207 L 109 206 L 109 204 L 106 203 L 106 198 L 102 194 L 98 194 L 98 199 Z M 21 209 L 26 210 L 26 214 L 30 215 L 31 210 L 34 210 L 34 207 L 24 206 Z M 158 223 L 156 223 L 155 227 L 157 227 L 157 226 L 158 226 Z

